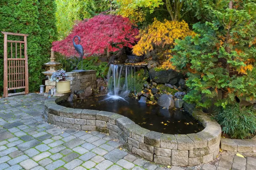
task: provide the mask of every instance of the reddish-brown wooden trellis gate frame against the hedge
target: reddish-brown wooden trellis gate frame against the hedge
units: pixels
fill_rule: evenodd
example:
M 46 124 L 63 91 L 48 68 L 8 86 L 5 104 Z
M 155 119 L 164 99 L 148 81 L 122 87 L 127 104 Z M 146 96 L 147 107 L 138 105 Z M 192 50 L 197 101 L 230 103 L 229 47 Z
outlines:
M 27 54 L 27 36 L 13 32 L 2 32 L 4 34 L 4 97 L 28 94 L 28 54 Z M 23 41 L 8 40 L 7 35 L 23 36 Z M 8 56 L 8 43 L 11 43 L 11 50 Z M 15 57 L 12 57 L 12 43 L 15 43 Z M 17 58 L 17 43 L 20 44 L 20 58 Z M 22 46 L 24 53 L 22 54 Z M 11 55 L 10 55 L 11 54 Z M 9 57 L 9 58 L 8 58 Z M 8 90 L 25 89 L 20 93 L 9 93 Z

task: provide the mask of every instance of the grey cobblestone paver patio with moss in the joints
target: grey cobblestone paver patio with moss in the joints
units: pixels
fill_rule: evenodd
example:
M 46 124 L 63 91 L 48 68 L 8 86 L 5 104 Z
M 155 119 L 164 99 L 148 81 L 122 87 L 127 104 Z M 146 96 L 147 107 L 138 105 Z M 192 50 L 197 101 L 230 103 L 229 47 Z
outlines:
M 256 159 L 221 155 L 218 166 L 156 166 L 124 152 L 96 131 L 62 129 L 44 122 L 44 100 L 31 93 L 0 99 L 0 170 L 256 170 Z

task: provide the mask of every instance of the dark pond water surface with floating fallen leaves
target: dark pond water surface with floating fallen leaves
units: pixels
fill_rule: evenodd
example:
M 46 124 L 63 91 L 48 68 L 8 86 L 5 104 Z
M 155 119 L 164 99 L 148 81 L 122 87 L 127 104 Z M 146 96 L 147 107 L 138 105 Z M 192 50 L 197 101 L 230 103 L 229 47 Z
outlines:
M 167 110 L 158 105 L 139 103 L 136 100 L 104 100 L 106 96 L 90 96 L 74 102 L 63 101 L 61 106 L 114 112 L 130 118 L 150 131 L 167 134 L 189 134 L 202 131 L 204 127 L 182 110 Z

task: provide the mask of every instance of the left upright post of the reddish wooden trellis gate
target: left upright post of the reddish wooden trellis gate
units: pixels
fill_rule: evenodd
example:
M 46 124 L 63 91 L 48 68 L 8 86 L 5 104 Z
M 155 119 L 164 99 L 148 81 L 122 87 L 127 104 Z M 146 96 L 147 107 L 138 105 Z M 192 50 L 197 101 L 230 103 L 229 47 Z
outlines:
M 7 35 L 4 34 L 4 97 L 8 97 L 8 74 L 7 74 Z

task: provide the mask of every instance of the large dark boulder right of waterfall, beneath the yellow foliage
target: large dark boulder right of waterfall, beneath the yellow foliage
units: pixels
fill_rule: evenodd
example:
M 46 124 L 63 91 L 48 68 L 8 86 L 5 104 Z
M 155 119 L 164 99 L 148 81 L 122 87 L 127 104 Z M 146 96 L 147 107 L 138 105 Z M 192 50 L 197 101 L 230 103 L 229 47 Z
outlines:
M 155 71 L 154 68 L 151 68 L 149 73 L 152 77 L 152 80 L 156 83 L 168 83 L 170 79 L 178 76 L 178 73 L 171 69 Z

